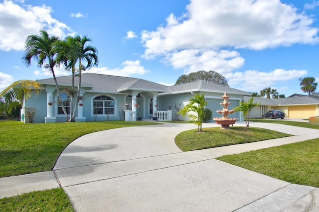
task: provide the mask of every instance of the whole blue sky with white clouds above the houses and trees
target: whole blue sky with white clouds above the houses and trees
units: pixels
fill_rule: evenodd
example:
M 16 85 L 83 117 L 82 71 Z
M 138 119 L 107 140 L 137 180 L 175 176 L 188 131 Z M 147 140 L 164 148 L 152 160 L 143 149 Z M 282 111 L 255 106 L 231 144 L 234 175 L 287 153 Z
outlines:
M 319 0 L 2 0 L 0 90 L 51 77 L 21 61 L 26 37 L 41 28 L 90 37 L 99 52 L 91 73 L 173 85 L 213 70 L 232 88 L 286 97 L 306 94 L 299 78 L 319 82 Z M 69 75 L 62 67 L 56 74 Z

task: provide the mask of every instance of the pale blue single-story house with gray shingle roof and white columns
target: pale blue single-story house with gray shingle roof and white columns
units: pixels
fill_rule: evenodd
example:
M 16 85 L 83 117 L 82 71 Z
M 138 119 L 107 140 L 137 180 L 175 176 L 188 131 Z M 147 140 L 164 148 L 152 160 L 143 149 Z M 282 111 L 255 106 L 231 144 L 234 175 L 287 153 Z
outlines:
M 75 79 L 77 88 L 78 78 Z M 67 111 L 70 111 L 70 99 L 64 89 L 70 89 L 72 76 L 57 77 L 61 99 Z M 23 107 L 36 109 L 34 122 L 65 122 L 66 117 L 58 104 L 58 97 L 53 78 L 37 80 L 44 87 L 44 91 L 23 101 Z M 251 93 L 221 86 L 206 81 L 196 81 L 176 86 L 164 86 L 138 78 L 119 77 L 102 74 L 82 74 L 80 96 L 83 98 L 76 107 L 75 121 L 100 120 L 136 120 L 136 116 L 150 119 L 155 111 L 164 118 L 160 120 L 176 119 L 178 116 L 175 104 L 180 109 L 188 103 L 195 94 L 204 94 L 213 117 L 219 117 L 216 110 L 221 110 L 221 97 L 224 92 L 230 96 L 230 108 L 239 105 L 244 96 Z M 52 103 L 52 104 L 51 104 Z M 126 115 L 125 115 L 126 114 Z M 23 115 L 23 112 L 21 113 Z M 168 117 L 169 115 L 169 117 Z M 159 116 L 162 117 L 162 116 Z M 240 112 L 231 117 L 243 120 Z M 187 116 L 179 119 L 189 120 Z

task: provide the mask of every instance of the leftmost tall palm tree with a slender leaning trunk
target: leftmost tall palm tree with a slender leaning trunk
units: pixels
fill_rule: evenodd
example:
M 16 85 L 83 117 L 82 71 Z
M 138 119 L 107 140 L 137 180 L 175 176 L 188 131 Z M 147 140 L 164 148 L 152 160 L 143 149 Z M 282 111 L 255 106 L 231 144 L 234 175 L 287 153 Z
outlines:
M 57 40 L 59 40 L 58 37 L 49 37 L 49 34 L 44 29 L 40 30 L 40 35 L 29 35 L 25 41 L 24 55 L 22 57 L 22 60 L 24 61 L 25 65 L 29 67 L 31 65 L 31 59 L 34 58 L 35 60 L 37 60 L 37 65 L 39 68 L 44 65 L 44 67 L 51 72 L 60 102 L 62 99 L 54 73 L 54 66 L 56 65 L 54 56 L 56 52 L 52 51 L 52 44 Z M 45 61 L 47 61 L 48 63 L 44 64 Z M 61 107 L 66 118 L 68 118 L 68 114 L 62 102 Z

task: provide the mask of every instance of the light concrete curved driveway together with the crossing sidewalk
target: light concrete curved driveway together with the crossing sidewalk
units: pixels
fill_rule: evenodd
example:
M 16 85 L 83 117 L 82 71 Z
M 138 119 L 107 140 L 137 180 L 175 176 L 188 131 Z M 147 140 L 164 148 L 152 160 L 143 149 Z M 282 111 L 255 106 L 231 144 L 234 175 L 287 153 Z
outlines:
M 235 125 L 245 126 L 245 122 Z M 318 188 L 290 184 L 214 159 L 318 138 L 319 130 L 258 122 L 250 126 L 295 136 L 181 152 L 174 137 L 196 128 L 193 124 L 165 123 L 95 132 L 72 142 L 62 152 L 54 172 L 44 173 L 42 178 L 34 178 L 41 173 L 0 178 L 0 198 L 29 192 L 28 187 L 25 191 L 20 188 L 25 183 L 32 187 L 32 179 L 39 185 L 30 190 L 60 184 L 77 212 L 319 211 Z

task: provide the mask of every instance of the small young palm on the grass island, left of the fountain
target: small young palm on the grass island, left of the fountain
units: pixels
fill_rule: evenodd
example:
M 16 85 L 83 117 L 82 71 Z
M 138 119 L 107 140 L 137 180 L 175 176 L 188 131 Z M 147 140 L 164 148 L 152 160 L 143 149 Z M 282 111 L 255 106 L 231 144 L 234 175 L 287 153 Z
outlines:
M 196 94 L 194 98 L 189 99 L 189 103 L 185 105 L 181 110 L 179 110 L 178 114 L 181 113 L 183 116 L 186 115 L 187 112 L 194 112 L 188 113 L 188 117 L 191 121 L 198 126 L 197 131 L 202 131 L 202 121 L 204 115 L 204 107 L 207 105 L 205 101 L 204 94 L 199 95 Z

